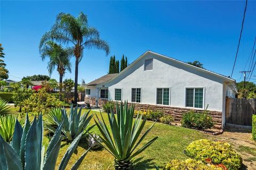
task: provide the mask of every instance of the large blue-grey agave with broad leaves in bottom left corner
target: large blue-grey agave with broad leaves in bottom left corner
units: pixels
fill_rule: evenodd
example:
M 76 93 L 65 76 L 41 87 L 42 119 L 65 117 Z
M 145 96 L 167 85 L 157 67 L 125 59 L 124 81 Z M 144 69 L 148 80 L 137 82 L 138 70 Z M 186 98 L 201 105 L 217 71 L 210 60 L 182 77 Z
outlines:
M 23 129 L 19 121 L 16 121 L 12 145 L 9 145 L 2 137 L 0 137 L 0 169 L 57 169 L 55 168 L 55 165 L 61 146 L 62 125 L 63 123 L 61 123 L 55 131 L 45 152 L 44 146 L 42 145 L 42 115 L 39 115 L 38 120 L 36 120 L 35 117 L 32 124 L 29 123 L 27 115 Z M 71 143 L 66 154 L 63 156 L 58 169 L 62 170 L 66 168 L 81 137 L 82 133 Z M 84 152 L 71 169 L 78 168 L 89 149 Z

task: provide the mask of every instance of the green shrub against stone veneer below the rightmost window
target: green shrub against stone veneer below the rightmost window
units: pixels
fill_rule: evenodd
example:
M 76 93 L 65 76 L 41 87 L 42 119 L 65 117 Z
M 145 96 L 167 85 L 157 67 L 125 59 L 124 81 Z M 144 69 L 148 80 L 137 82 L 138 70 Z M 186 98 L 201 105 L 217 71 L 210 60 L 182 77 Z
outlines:
M 181 125 L 185 128 L 196 128 L 199 130 L 211 129 L 213 127 L 212 116 L 207 111 L 203 113 L 190 111 L 183 114 Z

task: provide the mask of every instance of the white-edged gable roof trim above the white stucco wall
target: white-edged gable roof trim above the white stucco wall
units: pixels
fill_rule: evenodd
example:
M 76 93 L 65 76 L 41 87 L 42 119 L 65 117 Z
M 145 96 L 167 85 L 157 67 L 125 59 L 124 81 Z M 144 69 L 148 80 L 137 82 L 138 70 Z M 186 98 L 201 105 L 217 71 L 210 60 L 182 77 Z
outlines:
M 171 57 L 168 57 L 168 56 L 165 56 L 165 55 L 162 55 L 162 54 L 158 54 L 158 53 L 155 53 L 155 52 L 151 52 L 150 50 L 147 50 L 147 52 L 145 52 L 144 54 L 142 54 L 139 58 L 137 58 L 134 62 L 132 62 L 129 66 L 127 66 L 123 71 L 121 71 L 120 73 L 118 73 L 115 77 L 113 77 L 113 79 L 110 79 L 109 81 L 112 81 L 114 79 L 116 79 L 117 77 L 119 77 L 121 74 L 123 74 L 126 70 L 130 69 L 130 67 L 132 67 L 135 63 L 137 63 L 139 60 L 141 60 L 141 58 L 145 57 L 147 54 L 154 54 L 156 56 L 159 56 L 159 57 L 162 57 L 162 58 L 166 58 L 167 60 L 171 60 L 173 62 L 177 62 L 177 63 L 180 63 L 182 65 L 186 65 L 188 67 L 191 67 L 195 70 L 198 70 L 198 71 L 202 71 L 202 72 L 205 72 L 205 73 L 208 73 L 210 75 L 214 75 L 215 77 L 218 77 L 218 78 L 221 78 L 222 80 L 225 80 L 225 81 L 228 81 L 228 82 L 232 82 L 234 83 L 234 86 L 236 86 L 235 82 L 236 80 L 234 79 L 231 79 L 229 77 L 226 77 L 225 75 L 221 75 L 221 74 L 218 74 L 218 73 L 215 73 L 215 72 L 212 72 L 212 71 L 209 71 L 209 70 L 206 70 L 206 69 L 202 69 L 202 68 L 199 68 L 197 66 L 194 66 L 194 65 L 191 65 L 191 64 L 188 64 L 186 62 L 182 62 L 182 61 L 179 61 L 179 60 L 176 60 L 175 58 L 171 58 Z

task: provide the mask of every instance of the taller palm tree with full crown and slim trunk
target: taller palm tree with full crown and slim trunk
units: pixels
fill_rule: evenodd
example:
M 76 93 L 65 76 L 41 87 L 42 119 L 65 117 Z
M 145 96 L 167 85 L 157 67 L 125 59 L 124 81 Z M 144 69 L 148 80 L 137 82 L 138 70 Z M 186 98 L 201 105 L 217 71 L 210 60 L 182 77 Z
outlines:
M 76 18 L 67 13 L 58 14 L 51 30 L 43 35 L 39 48 L 47 40 L 55 40 L 59 43 L 71 44 L 73 46 L 73 53 L 76 58 L 74 104 L 77 104 L 78 64 L 82 60 L 83 50 L 94 47 L 104 50 L 106 55 L 108 55 L 109 45 L 105 40 L 100 38 L 99 31 L 88 24 L 87 16 L 83 12 Z

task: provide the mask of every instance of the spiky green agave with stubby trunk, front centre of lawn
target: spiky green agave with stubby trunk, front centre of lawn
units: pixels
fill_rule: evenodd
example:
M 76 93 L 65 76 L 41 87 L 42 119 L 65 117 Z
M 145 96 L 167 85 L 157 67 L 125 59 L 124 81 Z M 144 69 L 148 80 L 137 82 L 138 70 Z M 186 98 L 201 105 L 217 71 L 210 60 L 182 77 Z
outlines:
M 102 121 L 97 115 L 98 121 L 95 119 L 94 121 L 100 130 L 100 138 L 103 143 L 105 143 L 103 147 L 115 157 L 115 169 L 131 169 L 131 159 L 140 154 L 158 138 L 155 137 L 151 139 L 146 145 L 137 149 L 155 123 L 139 138 L 146 124 L 147 117 L 142 120 L 142 115 L 138 114 L 137 117 L 133 119 L 134 105 L 128 107 L 127 102 L 125 102 L 124 105 L 121 102 L 120 106 L 116 103 L 116 114 L 115 116 L 113 111 L 108 114 L 110 129 L 103 120 L 101 113 Z M 94 139 L 97 140 L 96 138 Z M 98 142 L 100 141 L 98 140 Z

